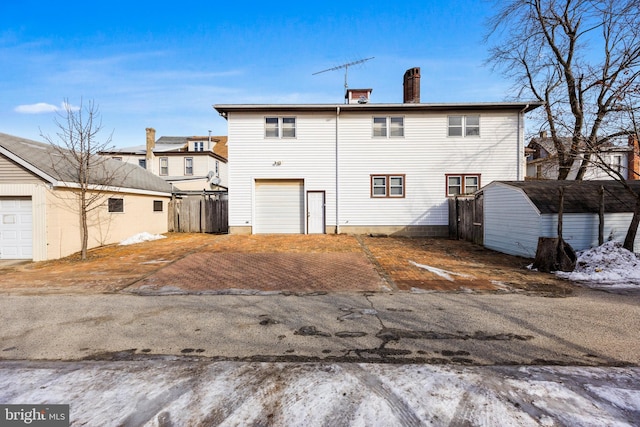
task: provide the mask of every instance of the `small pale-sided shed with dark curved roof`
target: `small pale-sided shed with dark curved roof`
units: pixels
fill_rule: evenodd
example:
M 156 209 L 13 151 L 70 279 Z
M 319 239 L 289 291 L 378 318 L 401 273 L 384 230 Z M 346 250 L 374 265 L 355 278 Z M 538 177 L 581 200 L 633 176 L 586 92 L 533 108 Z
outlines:
M 640 182 L 630 181 L 635 191 Z M 604 189 L 604 239 L 623 242 L 635 198 L 617 181 L 495 181 L 484 198 L 484 246 L 533 258 L 539 237 L 557 237 L 559 192 L 564 188 L 563 239 L 576 251 L 598 245 L 600 189 Z M 634 251 L 640 250 L 640 233 Z

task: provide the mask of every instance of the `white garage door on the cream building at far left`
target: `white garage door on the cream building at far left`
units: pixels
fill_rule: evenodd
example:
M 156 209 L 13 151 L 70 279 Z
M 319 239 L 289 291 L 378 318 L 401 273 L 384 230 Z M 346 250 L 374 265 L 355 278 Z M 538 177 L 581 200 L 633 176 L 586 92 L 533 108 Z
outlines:
M 33 258 L 30 197 L 0 197 L 0 259 Z

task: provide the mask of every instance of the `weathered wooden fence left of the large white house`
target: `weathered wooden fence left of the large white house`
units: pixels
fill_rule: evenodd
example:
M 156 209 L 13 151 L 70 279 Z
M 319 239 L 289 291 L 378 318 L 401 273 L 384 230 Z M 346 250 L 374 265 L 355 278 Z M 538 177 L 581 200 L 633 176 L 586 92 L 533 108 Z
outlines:
M 202 197 L 173 199 L 169 202 L 169 231 L 179 233 L 227 233 L 227 200 Z

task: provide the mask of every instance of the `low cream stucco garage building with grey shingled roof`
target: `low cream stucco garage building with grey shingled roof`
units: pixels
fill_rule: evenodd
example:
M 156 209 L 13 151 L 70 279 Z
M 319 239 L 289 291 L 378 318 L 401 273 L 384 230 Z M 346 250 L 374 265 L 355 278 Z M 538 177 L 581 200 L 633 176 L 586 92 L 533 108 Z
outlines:
M 0 133 L 0 259 L 43 261 L 80 251 L 79 184 L 67 163 L 49 144 Z M 89 248 L 167 232 L 171 186 L 137 166 L 106 159 L 104 167 L 117 178 L 108 188 L 99 173 L 92 179 L 92 190 L 105 194 L 89 214 Z

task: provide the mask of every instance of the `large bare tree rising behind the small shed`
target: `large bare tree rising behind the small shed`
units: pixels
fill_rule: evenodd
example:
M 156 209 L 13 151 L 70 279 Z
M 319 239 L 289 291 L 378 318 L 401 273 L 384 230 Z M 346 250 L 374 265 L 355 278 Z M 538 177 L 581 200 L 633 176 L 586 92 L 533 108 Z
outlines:
M 540 126 L 557 152 L 558 179 L 631 132 L 640 87 L 640 0 L 500 0 L 489 62 L 521 98 L 544 101 Z M 630 102 L 633 101 L 633 102 Z M 564 141 L 570 140 L 570 144 Z

